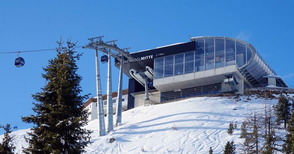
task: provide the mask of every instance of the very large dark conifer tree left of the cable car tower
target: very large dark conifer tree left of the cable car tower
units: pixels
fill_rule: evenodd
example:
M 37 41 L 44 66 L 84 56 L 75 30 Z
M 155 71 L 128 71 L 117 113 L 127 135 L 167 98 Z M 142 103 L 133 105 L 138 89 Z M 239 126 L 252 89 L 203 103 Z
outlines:
M 83 101 L 89 95 L 80 95 L 82 77 L 77 74 L 76 60 L 82 54 L 73 51 L 76 43 L 70 39 L 66 48 L 61 46 L 61 39 L 56 42 L 57 55 L 43 68 L 42 77 L 48 84 L 32 95 L 38 102 L 33 103 L 32 108 L 36 115 L 22 117 L 24 122 L 34 123 L 26 138 L 29 147 L 23 148 L 24 153 L 84 153 L 85 146 L 91 143 L 92 131 L 82 128 L 87 124 L 83 118 L 88 112 Z

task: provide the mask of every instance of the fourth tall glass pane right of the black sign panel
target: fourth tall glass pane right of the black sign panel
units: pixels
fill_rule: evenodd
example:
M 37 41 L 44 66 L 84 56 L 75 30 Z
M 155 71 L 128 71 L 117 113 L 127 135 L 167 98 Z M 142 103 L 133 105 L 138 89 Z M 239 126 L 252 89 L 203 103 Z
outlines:
M 235 64 L 235 41 L 225 40 L 225 66 Z

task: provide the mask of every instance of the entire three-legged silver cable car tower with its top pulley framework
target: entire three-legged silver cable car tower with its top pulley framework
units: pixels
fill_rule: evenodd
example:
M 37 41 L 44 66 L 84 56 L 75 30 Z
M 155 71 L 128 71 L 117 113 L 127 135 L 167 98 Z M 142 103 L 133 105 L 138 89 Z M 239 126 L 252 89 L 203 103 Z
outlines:
M 100 80 L 100 69 L 98 62 L 98 50 L 108 54 L 108 82 L 107 82 L 107 132 L 113 130 L 113 109 L 112 109 L 112 85 L 111 85 L 111 56 L 121 61 L 120 74 L 119 74 L 119 85 L 118 85 L 118 102 L 116 108 L 116 126 L 121 123 L 121 111 L 122 111 L 122 69 L 124 57 L 128 60 L 133 61 L 134 58 L 128 52 L 129 48 L 120 49 L 116 46 L 117 40 L 103 42 L 102 37 L 88 38 L 90 42 L 83 48 L 95 49 L 96 50 L 96 84 L 97 84 L 97 103 L 98 103 L 98 126 L 99 136 L 106 135 L 104 113 L 103 113 L 103 102 L 102 102 L 102 91 L 101 91 L 101 80 Z

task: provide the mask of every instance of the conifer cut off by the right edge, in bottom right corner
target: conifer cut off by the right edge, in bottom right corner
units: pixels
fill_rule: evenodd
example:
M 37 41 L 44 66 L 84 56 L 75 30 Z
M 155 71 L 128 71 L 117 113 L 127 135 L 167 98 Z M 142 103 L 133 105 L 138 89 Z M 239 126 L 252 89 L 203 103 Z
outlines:
M 291 119 L 288 121 L 288 128 L 285 143 L 283 145 L 284 153 L 294 153 L 294 111 L 292 112 Z

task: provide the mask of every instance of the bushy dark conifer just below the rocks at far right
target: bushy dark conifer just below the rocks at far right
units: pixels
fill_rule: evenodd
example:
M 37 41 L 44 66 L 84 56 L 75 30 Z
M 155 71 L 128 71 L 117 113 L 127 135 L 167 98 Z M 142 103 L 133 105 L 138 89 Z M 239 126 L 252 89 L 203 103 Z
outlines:
M 278 104 L 273 106 L 275 114 L 277 116 L 276 121 L 278 123 L 284 122 L 284 128 L 287 127 L 287 121 L 290 120 L 291 113 L 293 111 L 293 104 L 289 102 L 283 94 L 280 95 Z

